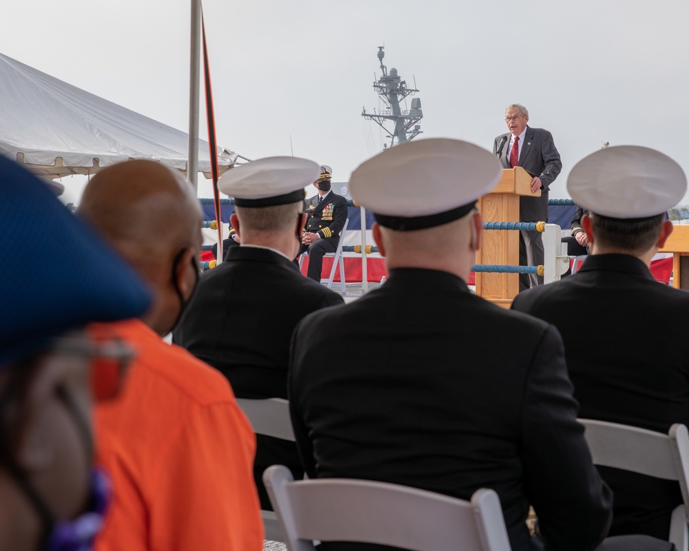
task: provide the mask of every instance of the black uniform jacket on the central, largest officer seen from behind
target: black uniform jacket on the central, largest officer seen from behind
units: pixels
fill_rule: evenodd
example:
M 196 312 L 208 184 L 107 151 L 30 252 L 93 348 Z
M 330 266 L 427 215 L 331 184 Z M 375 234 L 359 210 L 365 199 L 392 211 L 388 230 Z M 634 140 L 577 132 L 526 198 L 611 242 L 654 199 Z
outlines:
M 395 269 L 380 289 L 307 316 L 289 399 L 309 477 L 462 499 L 493 488 L 515 551 L 531 549 L 529 504 L 558 550 L 593 548 L 608 530 L 610 490 L 575 420 L 557 330 L 455 275 Z

